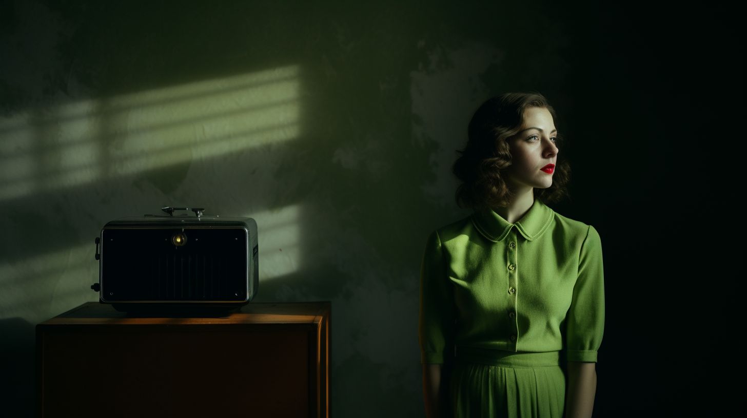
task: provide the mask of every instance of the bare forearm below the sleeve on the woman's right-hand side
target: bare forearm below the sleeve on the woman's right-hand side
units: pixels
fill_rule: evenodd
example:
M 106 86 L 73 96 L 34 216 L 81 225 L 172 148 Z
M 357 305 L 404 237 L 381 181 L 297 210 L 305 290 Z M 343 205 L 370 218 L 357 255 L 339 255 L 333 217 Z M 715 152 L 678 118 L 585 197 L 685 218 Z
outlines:
M 597 392 L 596 363 L 568 361 L 568 390 L 565 392 L 565 418 L 589 418 Z

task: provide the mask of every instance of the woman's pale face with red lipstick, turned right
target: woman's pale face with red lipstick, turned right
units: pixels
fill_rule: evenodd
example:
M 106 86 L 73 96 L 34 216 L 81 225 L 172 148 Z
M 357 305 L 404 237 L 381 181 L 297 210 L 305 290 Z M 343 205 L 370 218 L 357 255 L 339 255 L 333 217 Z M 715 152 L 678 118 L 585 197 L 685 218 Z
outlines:
M 506 169 L 509 189 L 521 193 L 533 187 L 546 189 L 553 184 L 558 154 L 556 136 L 553 116 L 547 108 L 524 110 L 521 131 L 507 141 L 511 152 L 511 165 Z

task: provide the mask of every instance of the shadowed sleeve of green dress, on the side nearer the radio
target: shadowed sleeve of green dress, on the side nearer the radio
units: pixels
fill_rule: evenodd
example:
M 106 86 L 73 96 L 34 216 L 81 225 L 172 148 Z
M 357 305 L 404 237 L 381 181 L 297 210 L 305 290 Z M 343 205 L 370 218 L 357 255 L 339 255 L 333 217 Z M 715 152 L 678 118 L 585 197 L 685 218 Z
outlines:
M 443 364 L 453 357 L 453 290 L 446 273 L 438 232 L 430 234 L 421 264 L 418 339 L 421 362 Z

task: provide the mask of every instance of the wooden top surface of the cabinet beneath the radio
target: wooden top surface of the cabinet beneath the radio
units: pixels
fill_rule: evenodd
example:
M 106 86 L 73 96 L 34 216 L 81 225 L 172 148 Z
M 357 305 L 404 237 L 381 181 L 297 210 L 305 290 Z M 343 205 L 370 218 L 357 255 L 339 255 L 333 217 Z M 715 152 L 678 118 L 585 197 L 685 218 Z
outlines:
M 86 302 L 39 325 L 317 324 L 329 316 L 329 311 L 329 302 L 278 302 L 249 303 L 223 316 L 144 316 L 125 314 L 99 302 Z

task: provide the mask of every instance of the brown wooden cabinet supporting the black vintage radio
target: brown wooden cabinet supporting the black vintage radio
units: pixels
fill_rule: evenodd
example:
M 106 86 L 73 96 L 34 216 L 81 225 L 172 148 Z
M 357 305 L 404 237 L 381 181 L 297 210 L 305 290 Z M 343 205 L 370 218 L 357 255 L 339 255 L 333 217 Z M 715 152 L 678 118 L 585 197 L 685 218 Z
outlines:
M 329 417 L 329 302 L 137 317 L 89 302 L 37 325 L 41 417 Z

